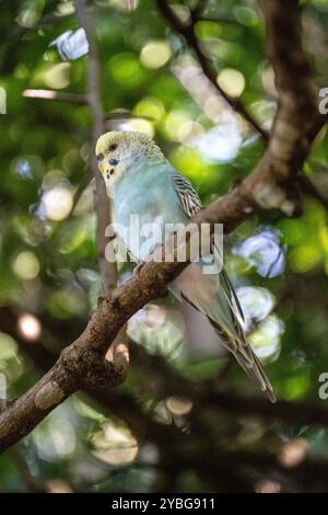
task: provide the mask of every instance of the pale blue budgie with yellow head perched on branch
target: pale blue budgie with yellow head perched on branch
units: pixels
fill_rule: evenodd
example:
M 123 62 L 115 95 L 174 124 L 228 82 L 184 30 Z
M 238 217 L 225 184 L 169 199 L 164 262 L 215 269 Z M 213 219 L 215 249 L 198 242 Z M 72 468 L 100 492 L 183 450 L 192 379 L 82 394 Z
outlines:
M 148 135 L 106 133 L 99 137 L 95 151 L 120 227 L 128 228 L 132 215 L 139 216 L 140 227 L 151 222 L 163 227 L 165 224 L 187 225 L 202 209 L 190 181 L 172 167 Z M 141 255 L 140 247 L 127 236 L 128 231 L 122 232 L 119 236 L 124 243 L 142 262 L 147 256 Z M 143 253 L 150 251 L 143 249 Z M 223 345 L 276 402 L 272 387 L 246 340 L 242 308 L 224 267 L 220 273 L 208 275 L 203 274 L 200 262 L 191 262 L 168 288 L 208 318 Z

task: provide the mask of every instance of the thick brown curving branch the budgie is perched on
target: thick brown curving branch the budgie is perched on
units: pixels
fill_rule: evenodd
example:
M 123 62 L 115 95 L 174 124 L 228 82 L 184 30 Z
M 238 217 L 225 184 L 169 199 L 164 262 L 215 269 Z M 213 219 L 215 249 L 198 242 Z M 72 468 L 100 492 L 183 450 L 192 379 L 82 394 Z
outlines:
M 280 10 L 276 9 L 276 4 L 280 5 Z M 325 117 L 317 115 L 308 85 L 308 67 L 304 62 L 300 37 L 294 33 L 298 30 L 297 4 L 292 0 L 263 2 L 272 65 L 276 73 L 281 75 L 277 79 L 281 99 L 269 146 L 255 170 L 237 187 L 195 217 L 197 224 L 220 221 L 226 231 L 231 231 L 255 209 L 279 208 L 286 214 L 295 210 L 289 186 L 293 185 L 313 139 L 325 123 Z M 285 15 L 292 45 L 289 42 L 282 53 L 280 27 L 285 31 Z M 289 67 L 284 67 L 284 59 Z M 293 98 L 294 88 L 296 100 Z M 99 125 L 96 127 L 99 128 Z M 94 137 L 96 133 L 94 128 Z M 187 264 L 149 262 L 139 277 L 131 278 L 110 298 L 103 299 L 81 336 L 61 353 L 55 366 L 37 385 L 0 415 L 0 450 L 25 436 L 73 391 L 119 384 L 125 378 L 127 367 L 113 364 L 104 367 L 108 343 L 114 341 L 138 309 L 152 299 L 165 296 L 167 283 Z

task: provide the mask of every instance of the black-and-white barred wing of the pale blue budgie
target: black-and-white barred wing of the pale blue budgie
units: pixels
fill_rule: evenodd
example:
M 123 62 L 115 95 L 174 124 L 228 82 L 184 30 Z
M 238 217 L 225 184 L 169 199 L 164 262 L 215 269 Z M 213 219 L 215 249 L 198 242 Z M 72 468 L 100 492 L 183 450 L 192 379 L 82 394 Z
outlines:
M 189 218 L 191 218 L 202 209 L 202 204 L 198 196 L 198 193 L 194 188 L 191 182 L 187 178 L 178 173 L 174 168 L 171 169 L 171 173 L 174 181 L 175 191 L 181 203 L 184 211 L 188 215 Z M 244 313 L 239 300 L 223 266 L 222 251 L 220 248 L 214 245 L 212 250 L 214 251 L 215 261 L 218 262 L 218 264 L 221 265 L 221 286 L 227 297 L 229 304 L 232 310 L 236 311 L 242 318 L 242 320 L 244 320 Z

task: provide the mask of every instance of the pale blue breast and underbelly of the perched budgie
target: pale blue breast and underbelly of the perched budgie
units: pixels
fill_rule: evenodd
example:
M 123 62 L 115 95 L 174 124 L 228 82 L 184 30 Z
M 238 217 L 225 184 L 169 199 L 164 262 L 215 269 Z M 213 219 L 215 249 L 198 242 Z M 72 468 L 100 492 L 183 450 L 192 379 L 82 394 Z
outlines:
M 145 261 L 154 247 L 163 242 L 165 224 L 187 225 L 189 221 L 176 192 L 174 174 L 176 172 L 168 161 L 154 165 L 136 163 L 116 183 L 113 192 L 116 221 L 124 228 L 122 232 L 118 228 L 118 233 L 138 260 Z M 140 239 L 137 234 L 136 238 L 130 232 L 132 215 L 139 215 L 141 230 L 151 230 L 155 224 L 161 228 L 161 233 L 153 239 L 149 238 L 150 234 Z M 203 260 L 200 258 L 198 263 L 190 264 L 168 288 L 177 298 L 181 299 L 184 296 L 189 299 L 199 311 L 233 333 L 235 328 L 231 301 L 221 287 L 220 276 L 218 273 L 204 275 L 202 265 Z

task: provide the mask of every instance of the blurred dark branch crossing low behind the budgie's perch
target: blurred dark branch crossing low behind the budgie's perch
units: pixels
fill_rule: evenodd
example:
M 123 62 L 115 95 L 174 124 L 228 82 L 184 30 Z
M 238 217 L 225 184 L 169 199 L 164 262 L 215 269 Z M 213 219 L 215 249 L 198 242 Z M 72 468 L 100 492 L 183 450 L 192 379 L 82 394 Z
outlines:
M 19 342 L 20 347 L 24 354 L 30 356 L 35 365 L 42 370 L 49 368 L 54 364 L 55 355 L 50 353 L 43 344 L 43 337 L 34 342 L 33 345 L 26 344 L 17 331 L 17 316 L 10 308 L 0 308 L 1 331 L 10 334 L 15 341 Z M 52 339 L 57 337 L 52 335 Z M 259 398 L 250 398 L 238 396 L 232 392 L 215 391 L 216 378 L 203 382 L 202 385 L 194 384 L 192 381 L 181 377 L 179 373 L 174 369 L 162 356 L 150 355 L 140 345 L 134 345 L 133 358 L 137 367 L 144 370 L 147 377 L 150 377 L 150 382 L 156 385 L 155 396 L 159 400 L 173 396 L 181 394 L 190 398 L 199 405 L 196 412 L 200 412 L 200 407 L 210 405 L 213 410 L 224 411 L 232 415 L 242 416 L 258 416 L 270 420 L 278 420 L 291 424 L 319 424 L 328 426 L 328 410 L 319 404 L 308 402 L 289 402 L 280 401 L 277 404 L 267 402 Z M 154 377 L 152 377 L 154 376 Z M 114 410 L 118 416 L 122 416 L 128 424 L 131 424 L 132 431 L 139 433 L 141 414 L 132 410 L 130 403 L 131 399 L 122 393 L 110 392 L 109 388 L 102 388 L 97 390 L 84 390 L 95 402 L 101 402 L 104 408 Z M 121 409 L 118 408 L 121 401 Z M 128 411 L 133 411 L 132 420 L 126 416 L 126 405 L 129 404 Z M 136 425 L 136 417 L 139 424 Z M 145 415 L 143 415 L 145 417 Z M 149 419 L 149 417 L 148 417 Z M 143 424 L 147 425 L 150 420 Z M 152 424 L 154 428 L 155 423 Z M 156 427 L 156 431 L 159 428 Z M 144 435 L 143 435 L 144 436 Z M 148 433 L 148 438 L 151 435 Z

